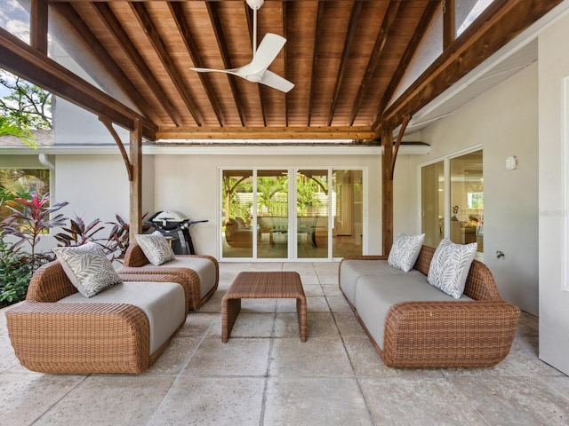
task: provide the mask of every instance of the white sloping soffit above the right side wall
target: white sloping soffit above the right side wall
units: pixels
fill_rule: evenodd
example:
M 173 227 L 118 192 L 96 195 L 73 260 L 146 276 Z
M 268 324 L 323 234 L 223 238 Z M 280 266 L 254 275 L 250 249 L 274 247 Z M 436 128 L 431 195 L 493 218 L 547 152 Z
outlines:
M 414 114 L 405 133 L 414 133 L 429 126 L 432 122 L 453 114 L 453 111 L 469 100 L 531 65 L 538 59 L 537 36 L 567 12 L 569 12 L 569 0 L 559 4 L 520 36 L 485 60 L 483 64 L 453 84 L 437 99 Z M 400 127 L 394 131 L 394 134 L 397 135 L 399 130 Z

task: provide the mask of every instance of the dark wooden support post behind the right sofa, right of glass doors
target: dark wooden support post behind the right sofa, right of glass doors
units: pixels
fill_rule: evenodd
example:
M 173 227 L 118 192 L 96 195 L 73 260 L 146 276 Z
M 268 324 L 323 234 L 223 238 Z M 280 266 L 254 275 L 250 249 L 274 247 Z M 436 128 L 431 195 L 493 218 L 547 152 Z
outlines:
M 381 188 L 383 203 L 381 212 L 382 253 L 389 255 L 393 244 L 393 178 L 391 177 L 391 161 L 393 158 L 393 134 L 387 125 L 381 126 Z

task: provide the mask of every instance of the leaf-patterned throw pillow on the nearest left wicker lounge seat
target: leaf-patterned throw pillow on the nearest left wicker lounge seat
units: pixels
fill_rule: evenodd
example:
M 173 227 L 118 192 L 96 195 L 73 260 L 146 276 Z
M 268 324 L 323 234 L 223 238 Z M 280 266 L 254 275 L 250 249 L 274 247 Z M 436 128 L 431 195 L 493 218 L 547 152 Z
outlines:
M 99 244 L 88 242 L 79 247 L 52 250 L 71 283 L 85 297 L 123 282 Z

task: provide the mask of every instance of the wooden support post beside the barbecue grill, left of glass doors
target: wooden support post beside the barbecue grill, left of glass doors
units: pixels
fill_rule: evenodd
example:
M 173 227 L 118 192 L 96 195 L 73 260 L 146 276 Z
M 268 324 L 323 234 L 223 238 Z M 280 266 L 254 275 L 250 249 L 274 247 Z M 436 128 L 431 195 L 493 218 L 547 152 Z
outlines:
M 142 233 L 142 125 L 138 119 L 135 119 L 134 123 L 130 140 L 132 180 L 130 181 L 129 240 L 131 244 L 136 242 L 136 234 Z

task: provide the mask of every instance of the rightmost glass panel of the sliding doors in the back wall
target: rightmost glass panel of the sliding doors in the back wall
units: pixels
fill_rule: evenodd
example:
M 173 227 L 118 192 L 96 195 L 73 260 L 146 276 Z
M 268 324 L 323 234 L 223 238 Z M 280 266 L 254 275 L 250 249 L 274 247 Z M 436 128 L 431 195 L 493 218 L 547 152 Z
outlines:
M 364 179 L 362 170 L 333 170 L 333 257 L 362 254 Z

